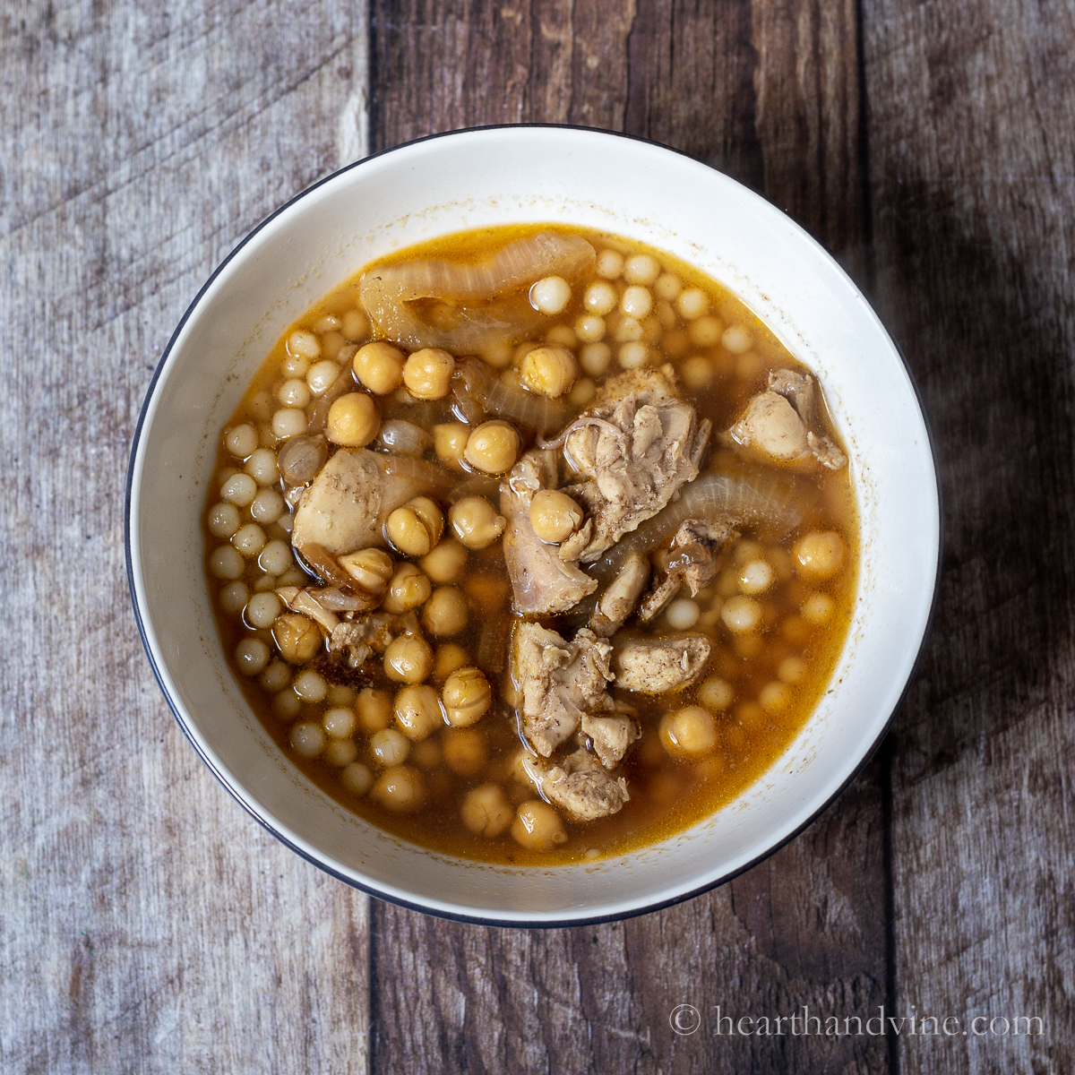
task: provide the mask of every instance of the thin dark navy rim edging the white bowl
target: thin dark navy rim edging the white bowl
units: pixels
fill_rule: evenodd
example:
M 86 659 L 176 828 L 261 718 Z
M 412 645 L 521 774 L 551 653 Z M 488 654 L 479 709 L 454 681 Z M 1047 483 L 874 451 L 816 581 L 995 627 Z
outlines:
M 324 186 L 326 183 L 335 180 L 338 176 L 343 175 L 346 172 L 350 172 L 354 169 L 360 168 L 361 166 L 369 163 L 372 160 L 376 160 L 379 157 L 384 157 L 387 154 L 395 153 L 399 149 L 405 149 L 410 146 L 418 145 L 422 142 L 431 142 L 435 139 L 452 138 L 458 134 L 470 134 L 478 131 L 497 131 L 497 130 L 514 131 L 518 129 L 561 130 L 561 131 L 579 132 L 583 134 L 610 135 L 618 139 L 625 139 L 631 142 L 640 142 L 644 145 L 657 149 L 662 149 L 668 153 L 677 154 L 680 157 L 686 157 L 688 160 L 693 161 L 694 163 L 704 164 L 706 168 L 713 169 L 713 171 L 717 172 L 718 174 L 725 175 L 733 183 L 737 183 L 740 186 L 745 187 L 757 198 L 760 198 L 762 201 L 766 202 L 769 205 L 776 209 L 780 214 L 787 217 L 808 241 L 816 244 L 825 253 L 825 255 L 833 262 L 834 267 L 838 270 L 838 272 L 843 276 L 845 276 L 850 282 L 850 284 L 859 291 L 862 301 L 866 304 L 870 312 L 877 319 L 878 325 L 885 331 L 885 334 L 891 342 L 893 348 L 895 349 L 897 355 L 899 355 L 900 361 L 903 363 L 904 373 L 906 374 L 911 388 L 914 391 L 915 400 L 917 402 L 918 411 L 921 416 L 923 427 L 926 429 L 926 435 L 930 448 L 930 460 L 933 471 L 934 496 L 936 498 L 936 507 L 937 507 L 937 545 L 936 545 L 937 554 L 936 554 L 936 564 L 934 567 L 934 573 L 933 573 L 933 587 L 930 596 L 929 614 L 926 617 L 926 624 L 922 630 L 921 640 L 918 645 L 918 651 L 915 655 L 915 659 L 912 662 L 911 669 L 907 673 L 907 677 L 903 684 L 903 687 L 900 691 L 899 698 L 895 701 L 895 704 L 892 706 L 891 712 L 888 714 L 888 717 L 886 718 L 884 725 L 882 726 L 880 731 L 877 733 L 877 736 L 870 745 L 870 747 L 863 752 L 861 759 L 848 774 L 847 778 L 800 826 L 798 826 L 787 835 L 783 836 L 776 843 L 772 844 L 764 851 L 762 851 L 755 858 L 750 859 L 749 861 L 743 863 L 742 865 L 736 866 L 734 870 L 730 870 L 728 873 L 721 874 L 719 877 L 716 877 L 714 879 L 706 880 L 704 884 L 700 885 L 697 888 L 690 889 L 689 891 L 686 892 L 676 893 L 675 895 L 670 897 L 668 899 L 656 900 L 649 903 L 645 903 L 644 905 L 637 907 L 631 907 L 626 911 L 619 911 L 604 915 L 584 914 L 579 916 L 568 915 L 564 917 L 557 915 L 556 917 L 546 917 L 546 918 L 534 918 L 534 919 L 512 918 L 510 920 L 505 920 L 502 918 L 489 918 L 483 915 L 471 915 L 462 912 L 448 911 L 444 907 L 439 907 L 439 906 L 429 906 L 419 901 L 406 900 L 395 892 L 386 892 L 379 889 L 375 885 L 363 884 L 362 882 L 359 882 L 355 877 L 347 876 L 341 873 L 340 871 L 333 869 L 328 862 L 321 861 L 321 859 L 319 859 L 315 855 L 312 855 L 304 848 L 296 845 L 284 833 L 278 831 L 269 820 L 262 817 L 261 814 L 243 798 L 243 796 L 240 793 L 240 790 L 232 786 L 232 783 L 225 776 L 224 773 L 220 772 L 217 765 L 214 764 L 212 758 L 210 758 L 206 755 L 206 752 L 201 748 L 197 737 L 191 733 L 191 730 L 188 727 L 187 721 L 184 718 L 180 706 L 176 704 L 172 696 L 169 693 L 164 678 L 161 674 L 161 670 L 158 668 L 157 661 L 154 659 L 153 648 L 149 644 L 149 635 L 148 635 L 148 631 L 152 630 L 152 628 L 149 628 L 145 622 L 145 620 L 143 619 L 142 610 L 139 606 L 139 601 L 138 601 L 138 591 L 135 588 L 134 562 L 132 554 L 133 525 L 131 517 L 131 506 L 132 506 L 132 490 L 134 483 L 135 461 L 138 458 L 139 447 L 142 442 L 142 434 L 145 426 L 146 416 L 148 414 L 150 403 L 153 402 L 154 395 L 156 392 L 157 383 L 160 379 L 164 367 L 168 364 L 169 358 L 171 357 L 172 348 L 174 347 L 176 340 L 183 332 L 183 329 L 186 326 L 187 321 L 195 314 L 195 311 L 200 305 L 202 298 L 213 286 L 216 278 L 232 262 L 232 260 L 234 260 L 234 258 L 239 256 L 239 254 L 243 250 L 243 248 L 257 234 L 259 234 L 262 231 L 262 229 L 268 227 L 282 213 L 285 213 L 292 205 L 296 205 L 298 202 L 306 198 L 309 195 L 313 194 L 315 190 Z M 142 402 L 142 406 L 139 412 L 138 422 L 134 427 L 134 434 L 131 439 L 131 447 L 130 447 L 130 455 L 128 458 L 127 478 L 126 478 L 125 496 L 124 496 L 124 551 L 127 565 L 127 586 L 128 586 L 128 592 L 130 594 L 131 605 L 134 612 L 134 620 L 138 626 L 139 639 L 142 642 L 142 648 L 145 650 L 145 655 L 149 661 L 149 666 L 153 669 L 154 678 L 157 680 L 157 685 L 160 688 L 161 693 L 164 696 L 164 701 L 168 703 L 168 707 L 171 710 L 172 716 L 178 723 L 181 730 L 183 731 L 184 736 L 186 737 L 187 742 L 194 747 L 195 752 L 198 755 L 199 758 L 201 758 L 201 760 L 207 766 L 210 772 L 212 772 L 213 775 L 220 782 L 220 784 L 224 785 L 225 789 L 232 797 L 232 799 L 234 799 L 239 803 L 239 805 L 242 806 L 242 808 L 247 814 L 249 814 L 250 817 L 253 817 L 263 829 L 266 829 L 273 836 L 275 836 L 276 840 L 278 840 L 282 844 L 284 844 L 285 847 L 288 847 L 290 850 L 295 851 L 301 858 L 305 859 L 307 862 L 311 862 L 313 865 L 317 866 L 319 870 L 324 871 L 330 876 L 336 878 L 338 880 L 343 882 L 349 888 L 358 889 L 359 891 L 366 893 L 367 895 L 375 897 L 378 900 L 383 900 L 387 903 L 391 903 L 397 906 L 406 907 L 410 911 L 418 911 L 421 912 L 422 914 L 432 915 L 435 918 L 443 918 L 449 921 L 467 922 L 475 926 L 494 926 L 502 929 L 563 929 L 576 926 L 597 926 L 612 921 L 626 921 L 629 918 L 636 918 L 640 915 L 646 915 L 650 914 L 651 912 L 662 911 L 666 907 L 675 906 L 678 903 L 684 903 L 687 900 L 692 900 L 696 897 L 703 895 L 704 893 L 710 892 L 713 889 L 719 888 L 721 885 L 725 885 L 730 880 L 733 880 L 735 877 L 739 877 L 741 874 L 758 865 L 760 862 L 763 862 L 772 855 L 775 855 L 778 850 L 780 850 L 787 844 L 791 843 L 792 840 L 794 840 L 807 828 L 809 828 L 823 813 L 826 813 L 829 809 L 830 806 L 832 806 L 832 804 L 844 793 L 844 791 L 846 791 L 847 788 L 858 778 L 859 774 L 865 768 L 868 762 L 877 752 L 882 743 L 884 743 L 886 736 L 888 735 L 889 731 L 892 728 L 897 714 L 900 712 L 904 701 L 907 698 L 907 693 L 911 690 L 911 686 L 918 674 L 918 669 L 919 665 L 921 664 L 922 657 L 926 651 L 926 646 L 929 642 L 930 634 L 933 629 L 933 621 L 936 614 L 936 606 L 940 593 L 941 567 L 942 567 L 943 550 L 944 550 L 944 533 L 945 533 L 945 514 L 944 514 L 944 501 L 942 498 L 942 490 L 941 490 L 936 442 L 933 436 L 933 429 L 930 424 L 928 413 L 922 402 L 922 393 L 921 390 L 919 389 L 918 382 L 915 379 L 914 372 L 911 369 L 911 364 L 907 362 L 907 357 L 904 354 L 903 347 L 900 345 L 895 336 L 890 331 L 887 322 L 877 312 L 870 298 L 866 297 L 864 293 L 862 293 L 862 289 L 855 283 L 854 280 L 851 280 L 850 275 L 840 263 L 838 259 L 829 249 L 829 247 L 826 246 L 826 244 L 821 242 L 821 240 L 818 239 L 818 236 L 814 234 L 814 232 L 809 228 L 803 225 L 802 221 L 800 221 L 793 214 L 788 212 L 782 205 L 778 205 L 775 201 L 773 201 L 772 198 L 769 198 L 766 195 L 764 195 L 757 188 L 752 187 L 750 184 L 744 183 L 742 180 L 737 180 L 734 176 L 728 175 L 728 173 L 721 172 L 720 169 L 715 168 L 714 166 L 708 164 L 705 161 L 700 161 L 697 157 L 693 157 L 690 154 L 685 153 L 683 149 L 677 149 L 674 146 L 664 145 L 663 143 L 657 142 L 654 139 L 642 138 L 641 135 L 630 134 L 625 131 L 613 131 L 600 127 L 584 127 L 575 124 L 545 124 L 545 123 L 487 124 L 476 127 L 460 127 L 449 131 L 439 131 L 432 134 L 422 135 L 421 138 L 411 139 L 406 142 L 401 142 L 388 148 L 378 149 L 375 153 L 371 153 L 359 160 L 352 161 L 349 164 L 345 164 L 343 168 L 339 168 L 330 172 L 328 175 L 322 176 L 321 178 L 317 180 L 310 186 L 304 187 L 302 190 L 293 195 L 291 198 L 289 198 L 287 201 L 281 204 L 277 209 L 275 209 L 272 213 L 266 216 L 262 220 L 260 220 L 253 229 L 250 229 L 250 231 L 248 231 L 239 241 L 239 243 L 235 244 L 234 247 L 232 247 L 232 249 L 228 253 L 228 255 L 213 270 L 212 274 L 207 277 L 207 280 L 201 286 L 201 288 L 199 288 L 198 293 L 195 296 L 190 304 L 184 311 L 183 316 L 180 318 L 178 324 L 175 326 L 174 331 L 169 338 L 167 346 L 164 347 L 160 358 L 157 361 L 156 368 L 154 369 L 153 372 L 153 376 L 150 377 L 149 384 L 146 388 L 145 398 Z

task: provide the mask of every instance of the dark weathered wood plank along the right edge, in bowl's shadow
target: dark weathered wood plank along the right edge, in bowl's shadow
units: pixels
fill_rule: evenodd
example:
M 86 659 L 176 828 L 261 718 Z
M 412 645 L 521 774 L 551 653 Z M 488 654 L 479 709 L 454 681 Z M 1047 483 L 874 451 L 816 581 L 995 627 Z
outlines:
M 1075 11 L 866 0 L 864 16 L 877 295 L 933 422 L 947 515 L 892 838 L 900 1012 L 960 1023 L 901 1036 L 901 1070 L 1060 1071 L 1075 1036 Z M 979 1016 L 1040 1016 L 1045 1033 L 964 1034 Z

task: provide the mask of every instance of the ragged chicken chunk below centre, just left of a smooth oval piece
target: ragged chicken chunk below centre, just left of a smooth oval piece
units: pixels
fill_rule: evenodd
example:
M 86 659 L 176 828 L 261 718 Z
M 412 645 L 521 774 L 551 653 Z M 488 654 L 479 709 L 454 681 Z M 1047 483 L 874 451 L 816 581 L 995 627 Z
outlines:
M 613 707 L 606 691 L 611 654 L 612 643 L 586 628 L 564 642 L 539 624 L 515 625 L 511 677 L 524 734 L 543 758 L 574 734 L 586 713 Z

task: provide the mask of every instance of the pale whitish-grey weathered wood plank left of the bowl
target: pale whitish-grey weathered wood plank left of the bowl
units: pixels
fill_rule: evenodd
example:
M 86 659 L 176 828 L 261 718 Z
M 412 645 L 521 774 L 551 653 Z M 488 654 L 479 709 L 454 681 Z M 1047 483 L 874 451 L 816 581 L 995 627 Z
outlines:
M 0 20 L 0 1069 L 364 1072 L 367 901 L 184 741 L 123 553 L 174 325 L 253 225 L 361 147 L 364 17 L 180 0 Z

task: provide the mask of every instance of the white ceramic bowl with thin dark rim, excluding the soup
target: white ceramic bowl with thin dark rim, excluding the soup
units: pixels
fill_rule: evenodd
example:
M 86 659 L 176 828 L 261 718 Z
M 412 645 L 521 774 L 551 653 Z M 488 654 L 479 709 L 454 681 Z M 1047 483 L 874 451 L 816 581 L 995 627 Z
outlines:
M 304 777 L 225 662 L 202 568 L 218 430 L 283 329 L 375 258 L 494 224 L 564 221 L 640 239 L 749 304 L 820 378 L 848 448 L 862 562 L 832 685 L 786 754 L 734 802 L 659 844 L 589 865 L 507 868 L 405 843 Z M 131 594 L 176 718 L 270 831 L 342 880 L 456 918 L 564 924 L 702 892 L 791 838 L 879 743 L 914 672 L 936 582 L 929 432 L 899 350 L 862 293 L 790 217 L 728 176 L 622 135 L 558 127 L 461 131 L 368 158 L 304 191 L 213 274 L 172 336 L 131 455 Z

